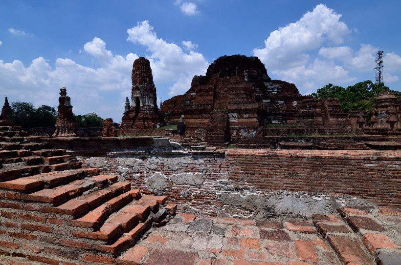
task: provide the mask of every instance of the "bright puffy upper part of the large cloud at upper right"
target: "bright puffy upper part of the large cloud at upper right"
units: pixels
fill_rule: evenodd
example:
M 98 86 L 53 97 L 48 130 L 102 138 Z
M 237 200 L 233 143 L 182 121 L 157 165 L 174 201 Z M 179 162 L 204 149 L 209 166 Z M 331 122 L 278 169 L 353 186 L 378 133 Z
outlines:
M 340 21 L 341 15 L 318 4 L 295 23 L 290 23 L 270 33 L 264 48 L 255 48 L 253 54 L 270 69 L 288 69 L 307 63 L 315 50 L 324 43 L 340 44 L 350 33 Z

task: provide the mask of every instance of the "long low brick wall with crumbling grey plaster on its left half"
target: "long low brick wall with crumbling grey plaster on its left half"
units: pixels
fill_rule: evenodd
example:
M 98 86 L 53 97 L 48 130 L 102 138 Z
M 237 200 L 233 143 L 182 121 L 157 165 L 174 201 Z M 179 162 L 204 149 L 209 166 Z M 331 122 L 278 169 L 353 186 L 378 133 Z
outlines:
M 400 151 L 159 150 L 81 159 L 144 193 L 167 195 L 180 211 L 211 216 L 266 216 L 275 211 L 271 193 L 278 190 L 401 205 Z

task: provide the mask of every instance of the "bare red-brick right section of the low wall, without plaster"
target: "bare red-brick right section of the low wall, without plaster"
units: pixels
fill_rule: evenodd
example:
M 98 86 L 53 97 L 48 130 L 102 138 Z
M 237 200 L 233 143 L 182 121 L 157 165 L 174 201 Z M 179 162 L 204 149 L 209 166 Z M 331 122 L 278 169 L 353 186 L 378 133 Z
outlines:
M 228 151 L 230 179 L 257 189 L 344 194 L 401 204 L 400 151 Z M 261 170 L 262 169 L 262 170 Z

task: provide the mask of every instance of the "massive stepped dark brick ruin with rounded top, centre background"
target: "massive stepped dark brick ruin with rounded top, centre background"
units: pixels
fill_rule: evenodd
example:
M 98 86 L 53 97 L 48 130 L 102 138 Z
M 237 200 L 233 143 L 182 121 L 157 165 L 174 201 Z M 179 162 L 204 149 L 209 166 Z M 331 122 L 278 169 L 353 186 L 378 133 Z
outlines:
M 356 131 L 338 100 L 301 96 L 294 84 L 271 80 L 257 57 L 241 55 L 214 61 L 187 93 L 163 102 L 160 112 L 167 124 L 183 115 L 186 134 L 211 144 L 269 135 L 264 126 L 270 123 Z

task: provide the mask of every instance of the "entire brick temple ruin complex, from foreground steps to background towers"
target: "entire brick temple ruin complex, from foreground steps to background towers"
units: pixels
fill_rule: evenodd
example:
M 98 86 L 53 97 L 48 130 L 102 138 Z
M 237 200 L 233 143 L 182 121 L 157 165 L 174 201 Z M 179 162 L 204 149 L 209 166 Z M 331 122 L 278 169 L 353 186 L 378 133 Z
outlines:
M 1 265 L 400 264 L 391 92 L 369 127 L 362 111 L 271 80 L 255 57 L 219 58 L 160 109 L 148 60 L 132 78 L 122 128 L 106 119 L 103 137 L 29 136 L 6 99 Z M 64 92 L 58 131 L 73 132 Z M 155 128 L 166 124 L 177 130 Z

